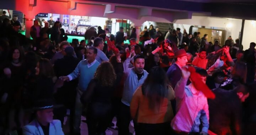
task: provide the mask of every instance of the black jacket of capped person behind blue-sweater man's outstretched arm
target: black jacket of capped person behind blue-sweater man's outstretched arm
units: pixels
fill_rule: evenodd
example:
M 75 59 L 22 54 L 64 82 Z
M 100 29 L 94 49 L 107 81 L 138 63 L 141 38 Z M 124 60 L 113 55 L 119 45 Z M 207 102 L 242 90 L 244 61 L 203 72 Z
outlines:
M 78 65 L 78 58 L 74 58 L 72 55 L 66 55 L 62 59 L 58 59 L 54 63 L 54 72 L 57 77 L 67 76 L 73 72 Z M 58 88 L 55 94 L 55 99 L 58 103 L 66 106 L 71 106 L 75 102 L 76 86 L 78 85 L 78 79 L 64 82 L 63 87 Z

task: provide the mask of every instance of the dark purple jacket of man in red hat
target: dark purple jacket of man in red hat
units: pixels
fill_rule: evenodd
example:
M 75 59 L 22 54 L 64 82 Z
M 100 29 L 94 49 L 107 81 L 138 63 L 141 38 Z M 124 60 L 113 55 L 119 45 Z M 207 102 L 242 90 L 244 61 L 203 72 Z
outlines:
M 174 89 L 177 82 L 180 81 L 182 73 L 180 67 L 177 64 L 173 64 L 167 71 L 167 76 L 171 82 L 172 88 Z

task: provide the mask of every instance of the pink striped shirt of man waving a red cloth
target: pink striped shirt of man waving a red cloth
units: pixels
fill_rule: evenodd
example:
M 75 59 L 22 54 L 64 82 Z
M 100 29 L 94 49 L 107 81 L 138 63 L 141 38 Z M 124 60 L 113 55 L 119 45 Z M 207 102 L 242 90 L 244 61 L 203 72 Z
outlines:
M 171 126 L 178 132 L 200 132 L 208 133 L 209 110 L 207 98 L 201 91 L 196 90 L 192 83 L 186 86 L 187 79 L 181 78 L 175 87 L 177 114 L 171 122 Z M 202 123 L 201 123 L 202 122 Z

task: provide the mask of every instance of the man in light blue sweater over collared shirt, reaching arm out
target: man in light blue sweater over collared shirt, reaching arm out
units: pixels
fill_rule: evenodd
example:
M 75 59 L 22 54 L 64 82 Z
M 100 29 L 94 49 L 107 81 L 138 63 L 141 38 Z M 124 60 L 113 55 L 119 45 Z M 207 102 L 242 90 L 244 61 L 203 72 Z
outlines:
M 74 121 L 74 134 L 80 134 L 81 115 L 84 107 L 80 102 L 80 97 L 83 92 L 86 91 L 87 86 L 91 79 L 94 78 L 96 69 L 100 63 L 95 59 L 97 55 L 97 49 L 90 47 L 86 51 L 86 60 L 81 60 L 76 66 L 76 69 L 68 76 L 61 76 L 60 79 L 64 81 L 71 81 L 79 77 L 78 90 L 76 95 L 75 105 L 75 121 Z

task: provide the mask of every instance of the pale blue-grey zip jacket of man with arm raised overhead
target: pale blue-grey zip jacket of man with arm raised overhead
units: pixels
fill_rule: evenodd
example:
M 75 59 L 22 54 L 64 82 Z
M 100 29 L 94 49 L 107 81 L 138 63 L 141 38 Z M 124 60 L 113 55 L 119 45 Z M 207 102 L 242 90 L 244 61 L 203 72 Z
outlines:
M 134 68 L 128 68 L 130 60 L 131 58 L 127 58 L 126 61 L 124 61 L 124 75 L 127 76 L 127 78 L 124 81 L 122 103 L 127 106 L 130 106 L 135 90 L 144 83 L 144 80 L 148 76 L 148 72 L 143 70 L 144 75 L 140 80 L 138 80 L 138 76 L 134 71 Z

